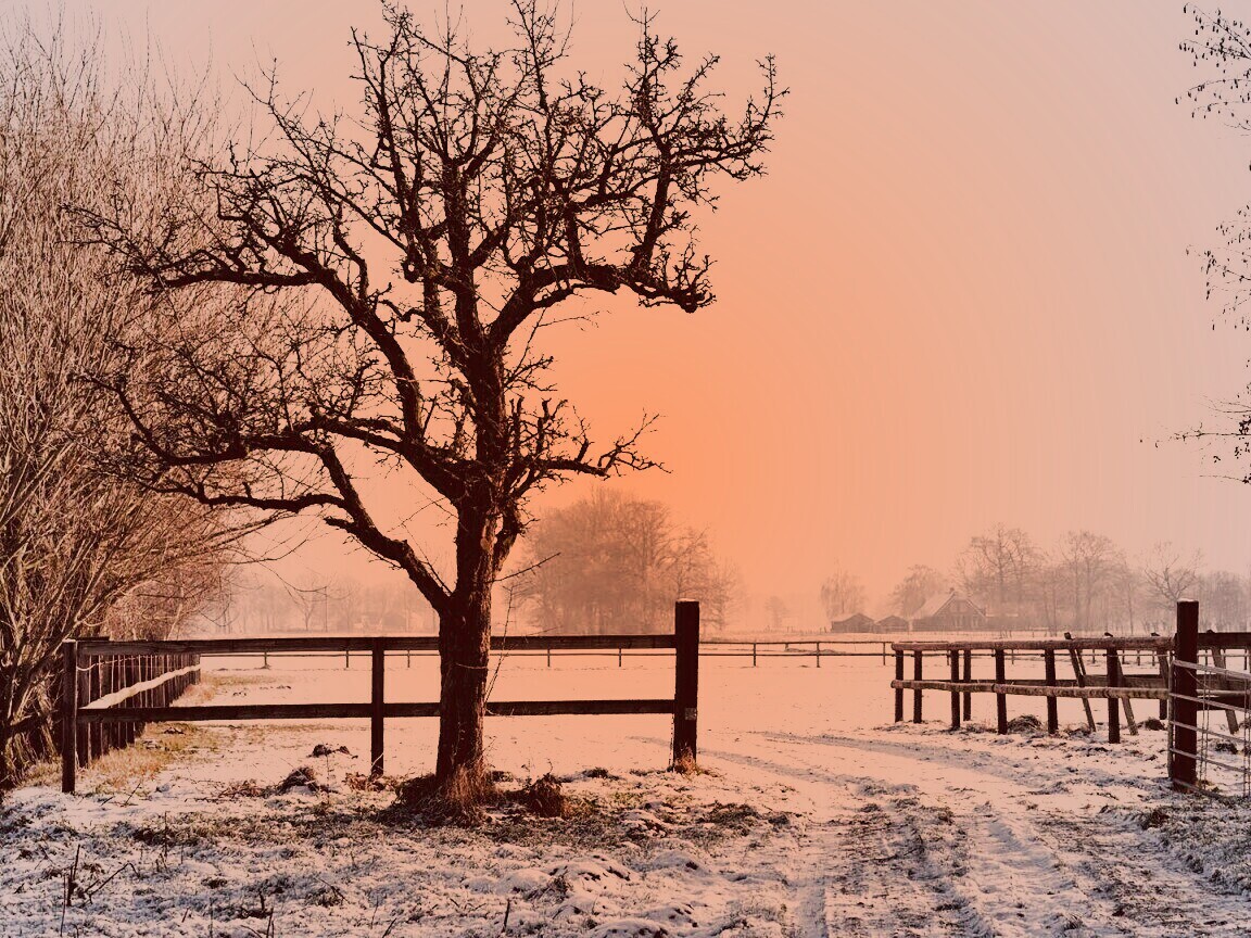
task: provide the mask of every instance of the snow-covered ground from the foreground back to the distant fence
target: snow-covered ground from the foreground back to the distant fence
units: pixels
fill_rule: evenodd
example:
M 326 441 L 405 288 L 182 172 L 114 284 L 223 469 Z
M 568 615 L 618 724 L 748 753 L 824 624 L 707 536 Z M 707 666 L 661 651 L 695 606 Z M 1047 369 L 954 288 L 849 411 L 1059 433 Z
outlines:
M 364 700 L 342 658 L 216 662 L 188 702 Z M 510 658 L 495 699 L 668 697 L 672 659 Z M 3 935 L 1245 935 L 1251 809 L 1170 793 L 1165 734 L 947 732 L 943 694 L 892 725 L 879 658 L 704 659 L 702 774 L 664 772 L 663 717 L 495 718 L 493 765 L 554 773 L 583 810 L 425 828 L 355 790 L 363 720 L 149 728 L 125 785 L 28 787 L 0 808 Z M 429 700 L 432 659 L 389 659 Z M 211 692 L 206 697 L 205 692 Z M 911 714 L 911 697 L 909 708 Z M 1010 714 L 1040 713 L 1010 699 Z M 1100 715 L 1100 709 L 1096 708 Z M 1140 719 L 1155 715 L 1141 703 Z M 1061 702 L 1077 727 L 1081 707 Z M 981 725 L 978 725 L 981 724 Z M 173 728 L 180 729 L 180 728 Z M 434 720 L 387 725 L 389 775 L 430 769 Z M 328 755 L 313 757 L 314 747 Z M 347 752 L 339 750 L 343 747 Z M 320 783 L 275 788 L 296 768 Z

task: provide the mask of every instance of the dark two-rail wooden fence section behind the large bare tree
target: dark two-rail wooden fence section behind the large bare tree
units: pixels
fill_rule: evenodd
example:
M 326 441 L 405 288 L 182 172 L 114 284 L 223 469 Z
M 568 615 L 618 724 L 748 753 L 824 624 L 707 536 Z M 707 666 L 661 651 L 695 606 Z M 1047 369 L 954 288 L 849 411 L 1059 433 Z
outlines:
M 494 652 L 547 652 L 572 649 L 673 649 L 674 693 L 659 699 L 600 700 L 488 700 L 488 717 L 538 717 L 562 714 L 672 714 L 673 758 L 697 755 L 697 717 L 699 688 L 699 604 L 679 602 L 674 609 L 674 630 L 669 635 L 507 635 L 490 640 Z M 385 699 L 385 660 L 388 652 L 433 652 L 434 637 L 389 638 L 240 638 L 188 639 L 171 642 L 109 642 L 85 639 L 64 645 L 64 680 L 61 705 L 61 788 L 74 792 L 80 764 L 75 747 L 65 740 L 79 738 L 79 729 L 94 724 L 123 724 L 200 720 L 273 720 L 273 719 L 338 719 L 369 720 L 370 772 L 383 772 L 384 720 L 398 717 L 437 717 L 438 703 L 388 703 Z M 165 677 L 129 684 L 105 698 L 81 702 L 78 695 L 83 669 L 93 669 L 98 660 L 128 655 L 193 655 L 194 665 L 201 655 L 236 654 L 309 654 L 333 652 L 370 655 L 370 699 L 368 703 L 330 704 L 211 704 L 170 707 L 143 697 L 179 678 L 171 672 Z M 190 672 L 188 672 L 190 673 Z M 179 672 L 181 674 L 181 672 Z M 185 674 L 181 674 L 185 677 Z M 131 739 L 134 735 L 131 734 Z M 81 760 L 84 764 L 86 760 Z

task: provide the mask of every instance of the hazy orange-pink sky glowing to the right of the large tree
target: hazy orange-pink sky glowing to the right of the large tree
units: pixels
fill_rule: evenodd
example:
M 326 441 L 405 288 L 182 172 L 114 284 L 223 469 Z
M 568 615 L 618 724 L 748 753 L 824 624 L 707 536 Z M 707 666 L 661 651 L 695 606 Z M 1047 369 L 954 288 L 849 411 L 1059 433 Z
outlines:
M 289 90 L 345 105 L 348 28 L 378 23 L 373 0 L 95 9 L 179 69 L 229 84 L 273 56 Z M 484 39 L 502 9 L 464 1 Z M 575 63 L 629 54 L 620 3 L 574 15 Z M 792 96 L 769 175 L 706 225 L 719 303 L 618 309 L 555 348 L 603 436 L 664 414 L 651 450 L 672 474 L 614 484 L 711 528 L 759 595 L 814 595 L 841 563 L 879 598 L 1001 520 L 1247 570 L 1251 489 L 1155 445 L 1251 356 L 1212 331 L 1186 256 L 1251 198 L 1251 141 L 1173 104 L 1196 74 L 1180 3 L 671 0 L 658 23 L 719 53 L 733 90 L 776 54 Z

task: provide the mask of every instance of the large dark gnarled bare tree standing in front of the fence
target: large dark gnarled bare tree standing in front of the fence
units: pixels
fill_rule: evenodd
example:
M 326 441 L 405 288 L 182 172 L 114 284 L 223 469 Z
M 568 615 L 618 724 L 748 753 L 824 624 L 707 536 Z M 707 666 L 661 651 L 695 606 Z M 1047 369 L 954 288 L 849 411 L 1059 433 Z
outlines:
M 653 463 L 649 423 L 597 445 L 548 384 L 538 339 L 578 295 L 626 290 L 694 311 L 713 300 L 693 211 L 718 176 L 762 173 L 782 91 L 772 61 L 739 116 L 643 20 L 623 86 L 567 69 L 552 15 L 515 0 L 515 46 L 475 51 L 385 6 L 382 41 L 354 33 L 364 110 L 306 118 L 276 83 L 271 133 L 189 165 L 200 198 L 155 226 L 98 214 L 98 236 L 158 290 L 241 286 L 218 343 L 135 355 L 119 399 L 165 470 L 208 505 L 315 513 L 402 569 L 439 615 L 432 797 L 489 794 L 483 753 L 492 587 L 527 500 L 570 474 Z M 454 524 L 440 567 L 363 479 L 415 477 Z

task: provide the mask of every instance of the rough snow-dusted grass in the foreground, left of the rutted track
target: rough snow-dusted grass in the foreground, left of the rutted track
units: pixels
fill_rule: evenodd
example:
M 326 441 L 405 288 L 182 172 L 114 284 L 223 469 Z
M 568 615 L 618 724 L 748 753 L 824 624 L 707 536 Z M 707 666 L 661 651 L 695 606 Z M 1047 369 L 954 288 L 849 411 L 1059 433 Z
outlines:
M 752 912 L 777 887 L 759 854 L 781 863 L 796 844 L 789 818 L 711 775 L 698 788 L 661 770 L 544 775 L 473 829 L 317 778 L 300 767 L 179 809 L 21 793 L 0 819 L 15 857 L 0 920 L 15 934 L 56 933 L 63 917 L 69 934 L 115 935 L 153 923 L 170 935 L 771 934 L 777 908 Z M 579 810 L 535 817 L 553 792 Z

